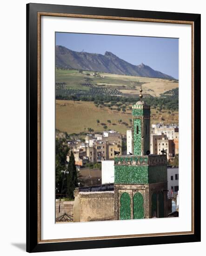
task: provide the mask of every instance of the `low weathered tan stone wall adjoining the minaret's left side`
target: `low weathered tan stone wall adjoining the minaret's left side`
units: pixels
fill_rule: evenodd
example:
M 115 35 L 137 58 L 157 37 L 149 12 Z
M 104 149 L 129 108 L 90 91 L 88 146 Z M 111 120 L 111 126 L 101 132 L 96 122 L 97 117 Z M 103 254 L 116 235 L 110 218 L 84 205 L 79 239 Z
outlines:
M 109 220 L 114 217 L 114 193 L 103 192 L 74 192 L 74 222 L 87 222 L 91 220 Z

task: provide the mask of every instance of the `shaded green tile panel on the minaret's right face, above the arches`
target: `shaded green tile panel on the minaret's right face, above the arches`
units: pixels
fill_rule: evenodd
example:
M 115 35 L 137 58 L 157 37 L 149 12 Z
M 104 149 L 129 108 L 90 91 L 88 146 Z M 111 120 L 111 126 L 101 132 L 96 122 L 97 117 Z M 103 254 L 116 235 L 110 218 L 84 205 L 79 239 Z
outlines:
M 148 167 L 149 183 L 167 182 L 166 165 L 157 165 Z

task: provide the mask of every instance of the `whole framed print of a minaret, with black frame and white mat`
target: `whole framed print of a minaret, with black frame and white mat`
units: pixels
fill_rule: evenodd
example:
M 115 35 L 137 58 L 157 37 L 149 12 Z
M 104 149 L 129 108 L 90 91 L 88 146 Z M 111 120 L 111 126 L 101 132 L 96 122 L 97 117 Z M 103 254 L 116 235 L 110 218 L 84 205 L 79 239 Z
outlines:
M 27 4 L 27 251 L 200 241 L 200 14 Z

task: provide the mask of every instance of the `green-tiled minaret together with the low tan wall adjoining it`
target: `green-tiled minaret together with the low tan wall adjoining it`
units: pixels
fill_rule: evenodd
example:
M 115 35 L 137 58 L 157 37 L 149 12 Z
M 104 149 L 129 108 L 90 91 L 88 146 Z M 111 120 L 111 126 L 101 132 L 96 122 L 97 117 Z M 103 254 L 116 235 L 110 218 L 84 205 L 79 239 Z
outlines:
M 114 183 L 76 188 L 74 222 L 167 217 L 166 155 L 150 154 L 150 106 L 132 107 L 132 152 L 114 158 Z

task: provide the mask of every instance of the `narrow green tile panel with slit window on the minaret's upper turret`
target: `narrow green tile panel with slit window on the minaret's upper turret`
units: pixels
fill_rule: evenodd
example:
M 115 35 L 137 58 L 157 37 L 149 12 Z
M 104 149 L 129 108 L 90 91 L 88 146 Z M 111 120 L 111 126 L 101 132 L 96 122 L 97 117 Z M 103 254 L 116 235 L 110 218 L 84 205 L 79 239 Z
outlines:
M 133 151 L 134 155 L 141 155 L 141 137 L 142 137 L 142 131 L 141 131 L 141 119 L 134 119 L 134 127 L 133 127 Z

